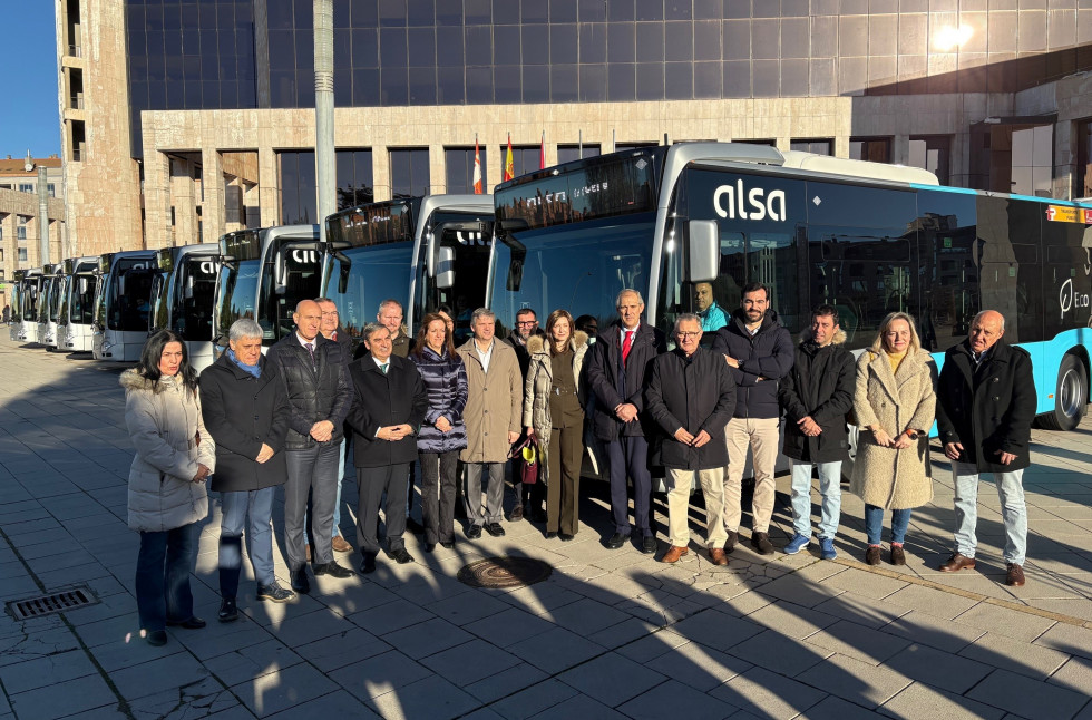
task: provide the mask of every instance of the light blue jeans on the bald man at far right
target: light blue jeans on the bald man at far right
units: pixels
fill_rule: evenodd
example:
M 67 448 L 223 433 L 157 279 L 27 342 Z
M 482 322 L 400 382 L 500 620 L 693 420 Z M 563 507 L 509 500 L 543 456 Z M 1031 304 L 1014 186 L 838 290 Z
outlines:
M 1027 507 L 1024 505 L 1024 471 L 992 473 L 1001 496 L 1001 516 L 1005 522 L 1005 562 L 1024 564 L 1027 551 Z M 978 523 L 978 468 L 968 463 L 952 464 L 955 485 L 956 552 L 966 557 L 975 556 L 978 541 L 975 525 Z

